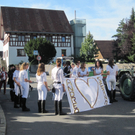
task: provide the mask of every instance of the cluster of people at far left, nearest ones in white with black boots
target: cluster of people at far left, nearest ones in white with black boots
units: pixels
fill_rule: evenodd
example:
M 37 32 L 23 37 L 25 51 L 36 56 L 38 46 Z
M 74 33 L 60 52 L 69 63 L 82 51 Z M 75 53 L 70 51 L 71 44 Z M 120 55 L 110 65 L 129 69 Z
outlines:
M 9 72 L 5 71 L 5 67 L 2 67 L 2 76 L 0 81 L 0 90 L 2 84 L 4 83 L 4 94 L 6 94 L 6 81 L 8 79 L 10 90 L 11 100 L 14 102 L 14 108 L 22 107 L 22 111 L 30 111 L 29 108 L 26 107 L 26 100 L 29 93 L 29 83 L 28 79 L 28 67 L 29 63 L 23 63 L 20 65 L 10 65 Z

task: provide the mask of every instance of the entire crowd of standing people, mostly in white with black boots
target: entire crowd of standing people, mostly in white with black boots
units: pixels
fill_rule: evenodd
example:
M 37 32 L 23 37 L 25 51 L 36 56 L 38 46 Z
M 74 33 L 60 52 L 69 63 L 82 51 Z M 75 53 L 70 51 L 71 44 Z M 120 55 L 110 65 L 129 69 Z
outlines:
M 102 62 L 97 60 L 95 62 L 95 67 L 92 69 L 93 74 L 96 75 L 107 75 L 106 84 L 107 84 L 107 93 L 110 98 L 110 103 L 117 102 L 115 99 L 116 95 L 116 76 L 118 74 L 118 67 L 114 64 L 113 59 L 109 60 L 109 63 L 106 67 L 107 73 L 103 72 Z M 86 63 L 81 63 L 78 61 L 76 64 L 67 61 L 63 63 L 61 67 L 61 59 L 56 60 L 56 67 L 52 69 L 51 78 L 53 80 L 53 89 L 54 89 L 54 107 L 55 115 L 65 115 L 62 111 L 62 98 L 65 90 L 64 78 L 78 78 L 78 77 L 88 77 L 89 72 L 86 68 Z M 1 87 L 4 84 L 4 94 L 6 94 L 6 81 L 8 78 L 8 84 L 10 87 L 10 96 L 11 101 L 14 102 L 14 108 L 22 107 L 22 111 L 30 111 L 26 107 L 26 101 L 29 94 L 29 89 L 32 83 L 29 77 L 29 63 L 23 63 L 20 65 L 10 65 L 8 73 L 5 71 L 5 68 L 2 67 L 0 73 L 0 91 Z M 47 113 L 46 110 L 46 98 L 47 91 L 50 91 L 47 84 L 45 65 L 40 63 L 38 65 L 36 73 L 37 81 L 37 91 L 38 91 L 38 112 Z M 19 106 L 18 106 L 19 104 Z

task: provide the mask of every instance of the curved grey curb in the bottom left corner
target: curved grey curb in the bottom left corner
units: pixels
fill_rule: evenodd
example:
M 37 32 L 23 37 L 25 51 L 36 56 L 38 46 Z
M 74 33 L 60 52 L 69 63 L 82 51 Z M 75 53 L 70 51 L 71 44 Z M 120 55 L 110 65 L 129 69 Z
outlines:
M 6 134 L 6 118 L 4 111 L 0 105 L 0 135 Z

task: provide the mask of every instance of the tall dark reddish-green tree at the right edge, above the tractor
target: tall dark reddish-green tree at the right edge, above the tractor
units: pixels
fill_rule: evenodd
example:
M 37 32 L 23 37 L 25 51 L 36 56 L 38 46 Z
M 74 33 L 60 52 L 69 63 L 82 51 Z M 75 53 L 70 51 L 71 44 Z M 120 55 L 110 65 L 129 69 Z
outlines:
M 131 55 L 130 52 L 132 51 L 131 39 L 133 38 L 133 34 L 135 33 L 134 8 L 132 8 L 130 19 L 123 19 L 116 31 L 117 34 L 113 37 L 116 38 L 118 49 L 115 50 L 117 51 L 117 54 L 119 53 L 119 56 L 121 56 L 122 59 L 130 61 L 131 59 L 129 59 L 128 56 Z M 116 47 L 116 44 L 114 47 Z

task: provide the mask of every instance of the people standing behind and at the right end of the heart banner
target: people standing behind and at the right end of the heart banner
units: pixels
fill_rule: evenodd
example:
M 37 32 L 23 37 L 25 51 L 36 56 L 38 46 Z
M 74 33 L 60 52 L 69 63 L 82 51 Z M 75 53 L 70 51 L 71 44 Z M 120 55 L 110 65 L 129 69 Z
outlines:
M 87 77 L 89 76 L 89 72 L 86 68 L 86 64 L 83 62 L 80 65 L 80 61 L 76 63 L 71 63 L 67 61 L 63 64 L 64 76 L 67 78 L 77 78 L 77 77 Z M 118 74 L 118 66 L 114 64 L 114 60 L 112 58 L 109 59 L 108 65 L 106 67 L 107 73 L 103 72 L 102 62 L 97 60 L 95 62 L 95 67 L 92 69 L 94 76 L 96 75 L 106 75 L 106 84 L 107 84 L 107 93 L 110 98 L 110 103 L 117 102 L 115 99 L 116 95 L 116 76 Z

